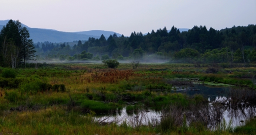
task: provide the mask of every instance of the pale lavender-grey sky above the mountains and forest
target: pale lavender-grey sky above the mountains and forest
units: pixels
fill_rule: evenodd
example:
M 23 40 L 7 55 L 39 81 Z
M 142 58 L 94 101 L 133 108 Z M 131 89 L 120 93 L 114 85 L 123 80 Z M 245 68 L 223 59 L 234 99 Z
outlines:
M 256 0 L 1 0 L 0 20 L 65 32 L 106 30 L 124 36 L 159 28 L 220 30 L 256 24 Z

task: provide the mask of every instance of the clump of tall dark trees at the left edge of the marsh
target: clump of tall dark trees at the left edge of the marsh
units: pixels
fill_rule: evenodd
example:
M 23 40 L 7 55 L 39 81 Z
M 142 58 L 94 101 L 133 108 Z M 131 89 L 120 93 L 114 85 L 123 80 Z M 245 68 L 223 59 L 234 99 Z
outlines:
M 0 31 L 0 65 L 13 69 L 27 60 L 34 60 L 35 50 L 29 32 L 21 23 L 9 20 Z

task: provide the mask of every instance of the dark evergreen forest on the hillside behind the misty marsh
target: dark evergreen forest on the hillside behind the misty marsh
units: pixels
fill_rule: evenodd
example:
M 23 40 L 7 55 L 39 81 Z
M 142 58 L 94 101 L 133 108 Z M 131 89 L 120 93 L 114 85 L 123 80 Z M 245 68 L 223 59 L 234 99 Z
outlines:
M 102 34 L 100 38 L 90 37 L 72 46 L 50 42 L 35 46 L 40 60 L 100 60 L 108 55 L 117 60 L 144 62 L 250 63 L 256 62 L 255 44 L 256 25 L 252 24 L 221 30 L 194 26 L 182 32 L 172 26 L 169 32 L 164 27 L 146 35 L 134 31 L 129 37 L 113 34 L 106 39 Z

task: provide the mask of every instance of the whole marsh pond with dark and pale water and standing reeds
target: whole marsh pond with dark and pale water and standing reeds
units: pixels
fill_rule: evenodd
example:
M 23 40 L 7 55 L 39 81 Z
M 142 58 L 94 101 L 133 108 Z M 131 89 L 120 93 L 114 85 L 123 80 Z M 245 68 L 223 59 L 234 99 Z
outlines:
M 201 94 L 208 99 L 209 104 L 205 107 L 194 107 L 189 112 L 175 112 L 175 108 L 170 111 L 154 111 L 143 109 L 134 110 L 132 114 L 126 112 L 126 107 L 119 110 L 116 115 L 97 117 L 100 124 L 115 122 L 118 125 L 126 123 L 132 127 L 141 125 L 156 126 L 164 116 L 174 115 L 173 118 L 182 122 L 183 115 L 186 116 L 187 124 L 200 120 L 207 127 L 216 127 L 223 119 L 226 123 L 231 122 L 232 127 L 242 126 L 248 119 L 255 117 L 256 92 L 245 88 L 234 89 L 228 86 L 206 86 L 193 85 L 188 87 L 176 87 L 173 93 L 185 93 L 187 95 Z M 176 109 L 177 110 L 177 109 Z

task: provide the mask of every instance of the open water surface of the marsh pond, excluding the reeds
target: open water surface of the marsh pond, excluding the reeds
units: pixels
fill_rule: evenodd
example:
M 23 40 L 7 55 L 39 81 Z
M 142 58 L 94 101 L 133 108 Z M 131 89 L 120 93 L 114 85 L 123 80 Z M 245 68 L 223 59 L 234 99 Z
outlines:
M 233 90 L 230 86 L 214 87 L 205 85 L 194 85 L 192 87 L 176 87 L 176 90 L 173 90 L 172 92 L 185 93 L 190 96 L 195 94 L 201 94 L 209 101 L 209 112 L 213 112 L 214 110 L 216 110 L 215 105 L 218 104 L 217 113 L 221 116 L 218 117 L 218 121 L 216 122 L 223 121 L 224 119 L 227 123 L 231 122 L 232 127 L 242 126 L 244 125 L 244 122 L 246 120 L 249 120 L 256 116 L 256 107 L 254 105 L 247 104 L 247 101 L 240 102 L 239 99 L 234 99 L 234 97 L 239 97 L 243 94 L 238 93 L 238 96 L 232 95 L 232 91 Z M 239 92 L 246 93 L 247 91 L 239 90 Z M 235 103 L 234 100 L 236 100 Z M 149 124 L 151 126 L 157 125 L 159 124 L 161 117 L 161 112 L 148 109 L 145 110 L 143 108 L 136 110 L 133 114 L 127 114 L 126 108 L 124 107 L 121 111 L 118 111 L 116 115 L 97 117 L 95 119 L 96 121 L 105 124 L 115 122 L 120 125 L 125 122 L 132 127 L 136 127 Z M 214 112 L 212 113 L 212 116 L 209 117 L 215 117 Z

